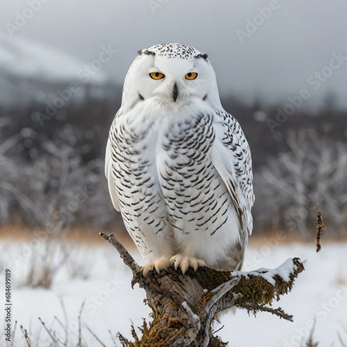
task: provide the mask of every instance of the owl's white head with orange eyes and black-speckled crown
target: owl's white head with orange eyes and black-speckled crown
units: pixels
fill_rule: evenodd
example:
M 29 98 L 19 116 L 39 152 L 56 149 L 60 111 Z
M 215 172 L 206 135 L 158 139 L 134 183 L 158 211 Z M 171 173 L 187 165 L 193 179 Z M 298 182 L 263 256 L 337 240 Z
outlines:
M 189 103 L 220 105 L 208 55 L 185 44 L 164 43 L 138 51 L 124 82 L 122 108 L 142 101 L 177 110 Z

